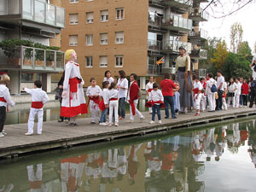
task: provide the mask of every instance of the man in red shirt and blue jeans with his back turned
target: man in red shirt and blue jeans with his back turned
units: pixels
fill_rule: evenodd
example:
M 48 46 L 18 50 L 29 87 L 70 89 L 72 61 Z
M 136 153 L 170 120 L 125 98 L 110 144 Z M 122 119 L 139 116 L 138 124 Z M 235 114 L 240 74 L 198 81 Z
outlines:
M 165 74 L 165 79 L 161 81 L 160 86 L 162 88 L 162 93 L 164 96 L 164 102 L 166 105 L 166 117 L 169 118 L 169 105 L 171 107 L 172 119 L 177 119 L 174 111 L 174 101 L 173 101 L 173 89 L 176 89 L 176 85 L 170 79 L 171 75 L 169 73 Z

